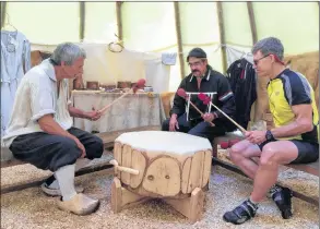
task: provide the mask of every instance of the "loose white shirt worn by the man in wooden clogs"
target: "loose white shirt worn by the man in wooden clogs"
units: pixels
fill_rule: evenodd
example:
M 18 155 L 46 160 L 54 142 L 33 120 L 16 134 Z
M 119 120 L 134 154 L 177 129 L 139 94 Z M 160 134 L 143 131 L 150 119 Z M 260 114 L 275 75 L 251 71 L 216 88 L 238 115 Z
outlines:
M 49 60 L 29 70 L 15 94 L 12 116 L 2 137 L 4 146 L 9 147 L 19 135 L 42 132 L 37 120 L 48 113 L 54 114 L 61 128 L 70 129 L 72 118 L 68 111 L 71 103 L 68 91 L 68 80 L 62 80 L 58 96 L 56 73 Z

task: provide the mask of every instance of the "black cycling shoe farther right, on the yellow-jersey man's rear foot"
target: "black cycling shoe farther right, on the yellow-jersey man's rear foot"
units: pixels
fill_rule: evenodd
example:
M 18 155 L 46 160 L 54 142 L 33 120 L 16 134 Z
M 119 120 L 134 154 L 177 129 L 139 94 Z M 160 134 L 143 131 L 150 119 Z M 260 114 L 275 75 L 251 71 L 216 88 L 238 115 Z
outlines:
M 270 190 L 271 197 L 276 204 L 277 208 L 281 212 L 281 216 L 284 219 L 289 219 L 293 216 L 292 213 L 292 197 L 293 191 L 288 188 L 273 186 Z

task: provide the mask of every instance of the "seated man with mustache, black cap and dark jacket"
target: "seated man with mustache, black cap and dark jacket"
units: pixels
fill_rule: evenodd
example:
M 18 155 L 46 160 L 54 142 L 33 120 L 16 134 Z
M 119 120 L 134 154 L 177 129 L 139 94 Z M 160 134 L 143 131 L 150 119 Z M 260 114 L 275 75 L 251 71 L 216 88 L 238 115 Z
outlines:
M 235 129 L 220 111 L 210 105 L 203 105 L 198 98 L 199 93 L 208 94 L 214 105 L 220 107 L 226 114 L 235 113 L 235 99 L 228 80 L 214 71 L 208 64 L 206 53 L 201 48 L 192 49 L 187 62 L 191 73 L 185 77 L 179 88 L 190 94 L 190 100 L 204 113 L 203 117 L 179 95 L 175 95 L 170 118 L 162 124 L 163 131 L 180 131 L 197 136 L 206 137 L 210 142 L 214 136 L 224 135 Z M 209 123 L 212 121 L 215 126 Z

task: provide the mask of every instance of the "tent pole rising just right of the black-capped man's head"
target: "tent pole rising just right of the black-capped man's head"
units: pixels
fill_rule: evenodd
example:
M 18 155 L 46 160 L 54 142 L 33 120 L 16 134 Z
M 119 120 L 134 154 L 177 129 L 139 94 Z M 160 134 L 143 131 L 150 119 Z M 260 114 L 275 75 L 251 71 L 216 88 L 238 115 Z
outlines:
M 224 20 L 223 20 L 223 7 L 222 2 L 216 2 L 216 10 L 217 10 L 217 20 L 218 20 L 218 31 L 220 31 L 220 41 L 222 46 L 222 65 L 223 65 L 223 73 L 227 71 L 227 55 L 226 55 L 226 44 L 225 40 L 225 27 L 224 27 Z

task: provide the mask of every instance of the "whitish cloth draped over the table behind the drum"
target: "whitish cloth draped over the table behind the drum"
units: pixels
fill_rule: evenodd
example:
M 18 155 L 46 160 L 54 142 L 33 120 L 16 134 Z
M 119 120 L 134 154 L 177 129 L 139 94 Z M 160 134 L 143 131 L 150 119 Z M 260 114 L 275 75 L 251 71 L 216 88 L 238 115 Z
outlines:
M 73 105 L 84 111 L 92 107 L 100 109 L 120 97 L 120 93 L 104 93 L 97 91 L 73 91 Z M 165 119 L 164 107 L 159 94 L 129 94 L 114 104 L 97 121 L 74 118 L 74 126 L 99 133 L 119 131 L 146 125 L 161 125 Z

